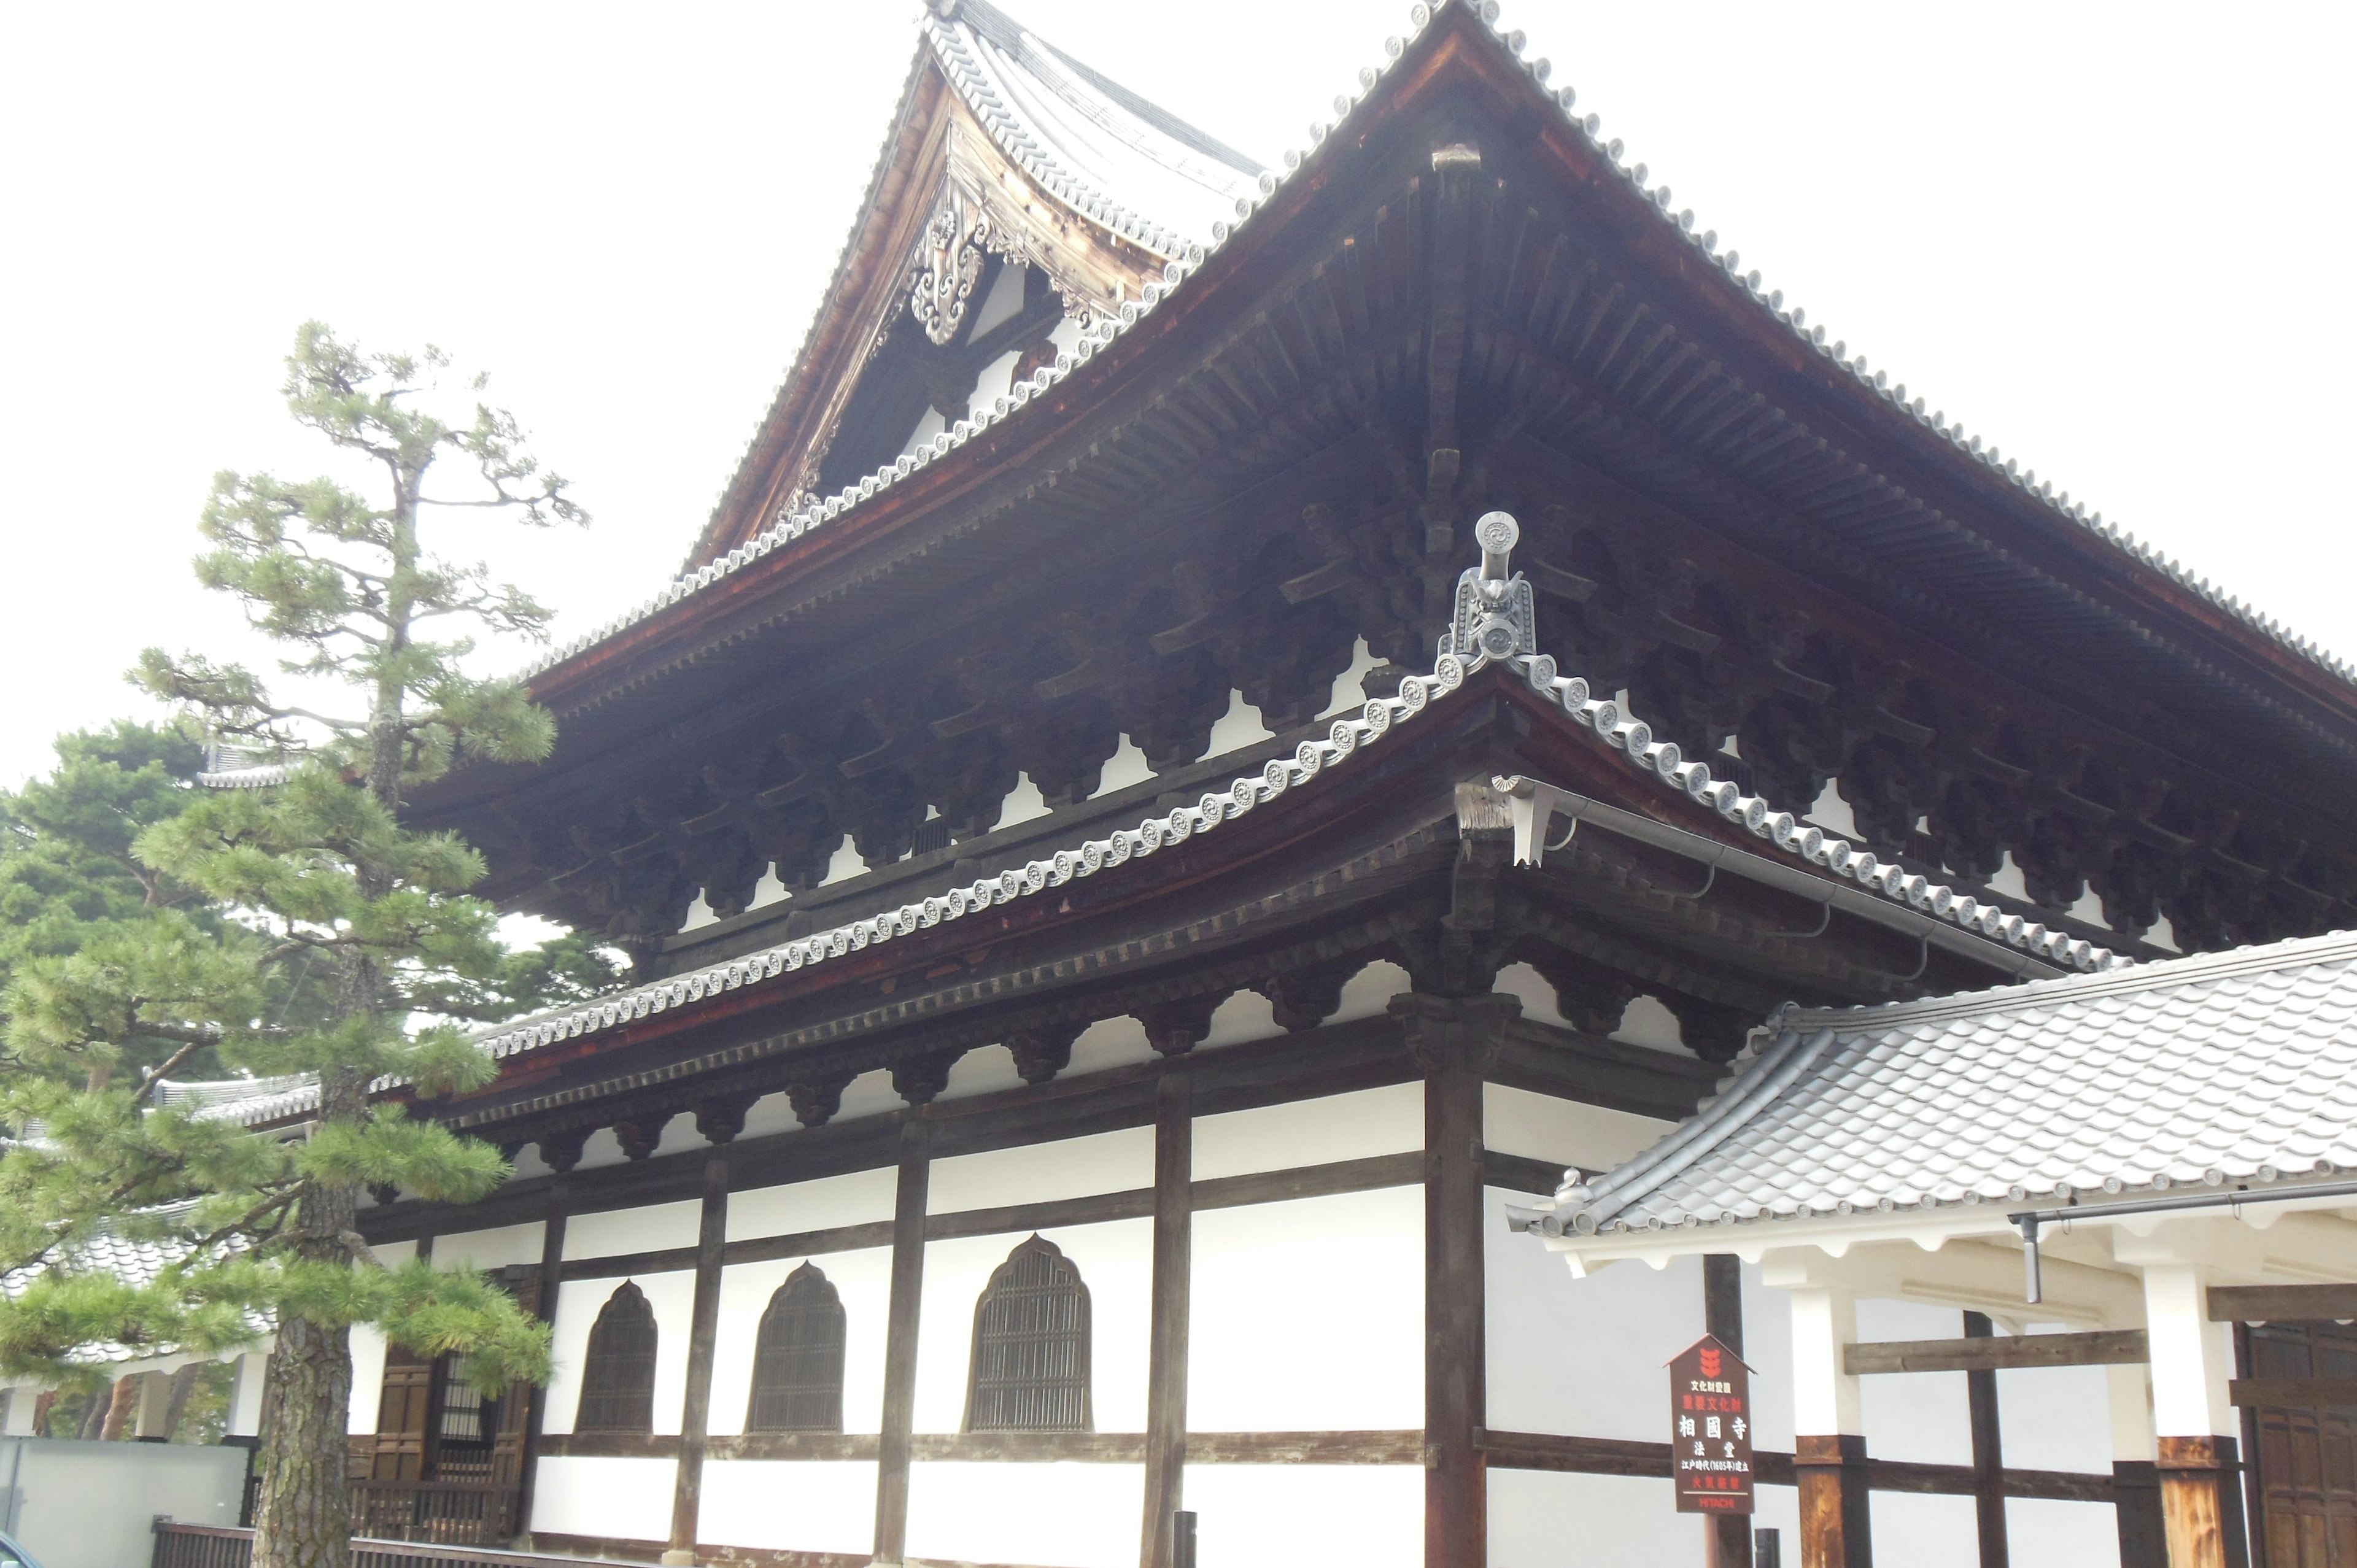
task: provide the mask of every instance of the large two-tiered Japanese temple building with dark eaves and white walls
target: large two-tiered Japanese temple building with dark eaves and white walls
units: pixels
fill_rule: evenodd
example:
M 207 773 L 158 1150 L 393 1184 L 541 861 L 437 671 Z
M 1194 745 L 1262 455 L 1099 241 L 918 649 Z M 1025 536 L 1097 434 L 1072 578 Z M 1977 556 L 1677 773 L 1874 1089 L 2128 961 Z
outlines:
M 2352 672 L 1763 290 L 1487 0 L 1282 167 L 919 26 L 686 573 L 417 804 L 636 974 L 415 1106 L 516 1177 L 372 1247 L 500 1271 L 556 1379 L 363 1337 L 365 1528 L 2145 1568 L 2166 1495 L 2178 1568 L 2352 1561 L 2357 1342 L 2232 1294 L 2357 1278 L 2352 1198 L 2060 1214 L 2357 1160 L 2192 1087 L 2345 1118 L 2341 1056 L 2168 1033 L 2345 1016 Z M 1749 1521 L 1671 1504 L 1706 1327 Z

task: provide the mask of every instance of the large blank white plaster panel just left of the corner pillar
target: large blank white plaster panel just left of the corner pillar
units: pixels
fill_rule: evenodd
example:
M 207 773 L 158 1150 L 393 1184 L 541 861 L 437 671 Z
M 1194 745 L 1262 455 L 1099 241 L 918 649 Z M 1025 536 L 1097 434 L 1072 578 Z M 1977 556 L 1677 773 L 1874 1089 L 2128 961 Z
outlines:
M 1424 1188 L 1207 1210 L 1193 1252 L 1188 1427 L 1424 1424 Z

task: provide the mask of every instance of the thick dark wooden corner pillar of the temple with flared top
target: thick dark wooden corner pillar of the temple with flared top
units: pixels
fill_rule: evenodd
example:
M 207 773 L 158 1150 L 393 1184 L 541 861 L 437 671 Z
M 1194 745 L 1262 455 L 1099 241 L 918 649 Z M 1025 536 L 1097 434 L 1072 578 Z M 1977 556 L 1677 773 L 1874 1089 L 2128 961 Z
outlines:
M 1391 1000 L 1424 1068 L 1424 1568 L 1490 1561 L 1480 1103 L 1520 1012 L 1508 995 Z

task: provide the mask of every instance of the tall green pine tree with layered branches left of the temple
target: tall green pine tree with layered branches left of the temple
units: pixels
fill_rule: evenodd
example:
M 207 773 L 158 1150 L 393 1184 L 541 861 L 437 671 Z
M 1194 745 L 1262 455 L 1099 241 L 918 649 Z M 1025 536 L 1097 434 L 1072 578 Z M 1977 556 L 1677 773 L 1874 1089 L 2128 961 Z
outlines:
M 0 1158 L 0 1269 L 21 1285 L 0 1302 L 0 1368 L 71 1368 L 104 1342 L 210 1351 L 269 1318 L 255 1568 L 349 1561 L 354 1323 L 462 1353 L 486 1389 L 547 1377 L 544 1325 L 476 1273 L 384 1266 L 358 1207 L 370 1186 L 469 1203 L 504 1181 L 495 1148 L 408 1103 L 490 1078 L 469 1021 L 613 979 L 582 943 L 511 955 L 495 910 L 467 896 L 481 856 L 403 825 L 410 792 L 450 766 L 533 762 L 554 740 L 521 686 L 464 667 L 467 630 L 540 637 L 547 611 L 431 552 L 427 531 L 587 521 L 509 413 L 474 401 L 469 417 L 436 417 L 445 373 L 434 349 L 363 354 L 318 323 L 297 332 L 288 406 L 375 474 L 372 493 L 224 472 L 196 568 L 288 648 L 280 674 L 304 700 L 233 663 L 141 655 L 137 681 L 269 766 L 243 771 L 250 788 L 189 792 L 134 835 L 137 865 L 193 889 L 196 910 L 146 908 L 28 955 L 0 1002 L 7 1049 L 49 1068 L 12 1075 L 0 1108 L 16 1132 Z M 438 462 L 467 472 L 467 495 L 429 490 Z M 163 1078 L 200 1052 L 309 1075 L 306 1137 L 158 1103 Z M 137 1080 L 94 1070 L 120 1061 L 141 1063 Z M 132 1285 L 90 1266 L 104 1233 L 181 1257 Z

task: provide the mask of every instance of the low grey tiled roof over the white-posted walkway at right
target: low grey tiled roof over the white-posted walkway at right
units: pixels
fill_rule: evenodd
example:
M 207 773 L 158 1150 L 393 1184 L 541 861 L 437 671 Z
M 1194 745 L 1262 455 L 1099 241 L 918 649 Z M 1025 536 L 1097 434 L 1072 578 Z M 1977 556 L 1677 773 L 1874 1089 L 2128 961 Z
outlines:
M 1546 1231 L 2272 1184 L 2357 1170 L 2357 931 L 1770 1019 L 1718 1099 Z

